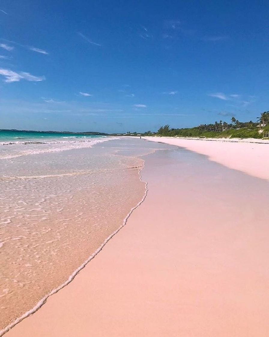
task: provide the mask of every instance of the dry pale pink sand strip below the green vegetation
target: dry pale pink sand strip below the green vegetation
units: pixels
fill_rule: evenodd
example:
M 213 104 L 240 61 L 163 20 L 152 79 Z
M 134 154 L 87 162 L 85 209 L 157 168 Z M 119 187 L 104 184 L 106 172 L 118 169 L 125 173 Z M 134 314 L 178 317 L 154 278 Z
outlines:
M 143 137 L 153 142 L 177 145 L 208 156 L 227 167 L 269 180 L 269 141 L 257 139 L 191 139 Z

